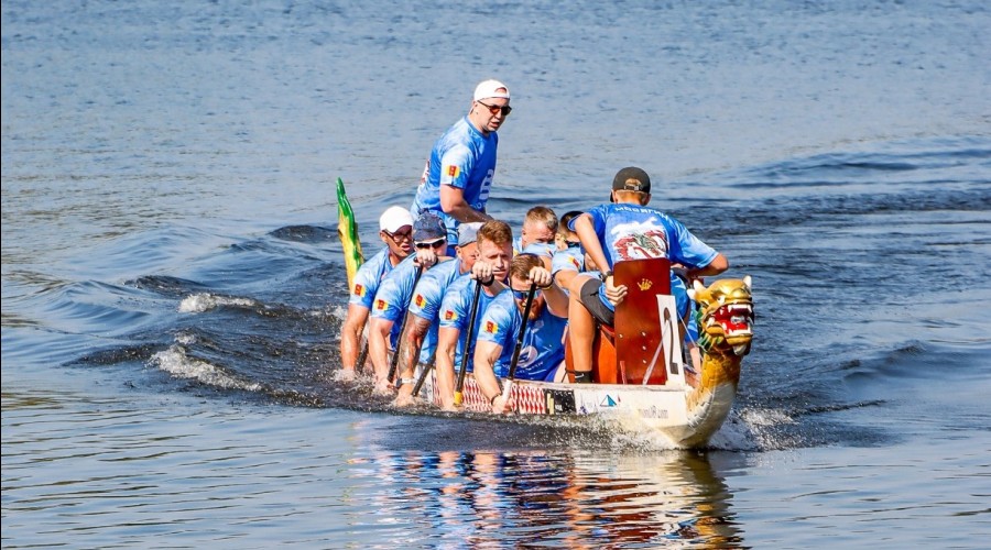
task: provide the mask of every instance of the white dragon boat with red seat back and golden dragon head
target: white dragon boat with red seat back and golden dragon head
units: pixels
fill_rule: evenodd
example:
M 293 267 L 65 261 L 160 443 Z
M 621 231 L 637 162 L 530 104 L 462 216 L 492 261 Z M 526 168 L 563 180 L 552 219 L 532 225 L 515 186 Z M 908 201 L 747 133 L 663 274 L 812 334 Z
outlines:
M 591 384 L 511 381 L 507 409 L 518 415 L 601 415 L 623 426 L 663 435 L 678 448 L 705 447 L 729 415 L 740 381 L 740 366 L 753 339 L 751 278 L 725 278 L 689 295 L 698 311 L 701 361 L 693 366 L 683 345 L 667 260 L 617 263 L 613 277 L 627 285 L 612 330 L 600 328 L 593 343 Z M 571 370 L 566 348 L 566 371 Z M 486 413 L 489 403 L 468 374 L 465 410 Z M 436 374 L 421 397 L 440 404 Z

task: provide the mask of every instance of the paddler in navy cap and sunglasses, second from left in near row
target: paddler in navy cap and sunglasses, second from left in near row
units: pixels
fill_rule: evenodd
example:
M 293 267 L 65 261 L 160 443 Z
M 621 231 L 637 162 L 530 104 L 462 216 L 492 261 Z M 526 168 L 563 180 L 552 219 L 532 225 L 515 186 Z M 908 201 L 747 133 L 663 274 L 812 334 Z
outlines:
M 436 215 L 424 212 L 413 223 L 413 246 L 410 254 L 400 262 L 379 285 L 372 301 L 368 327 L 368 356 L 375 371 L 375 391 L 389 393 L 390 350 L 395 349 L 399 328 L 410 307 L 413 286 L 422 265 L 429 270 L 435 263 L 450 260 L 447 250 L 447 231 Z M 426 273 L 426 272 L 424 272 Z

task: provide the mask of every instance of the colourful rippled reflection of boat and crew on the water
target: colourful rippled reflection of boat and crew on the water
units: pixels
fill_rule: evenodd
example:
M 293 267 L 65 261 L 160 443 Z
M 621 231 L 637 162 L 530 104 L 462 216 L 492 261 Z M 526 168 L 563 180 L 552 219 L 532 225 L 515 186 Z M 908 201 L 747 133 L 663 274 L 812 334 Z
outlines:
M 742 546 L 707 454 L 377 450 L 353 465 L 378 487 L 377 522 L 420 525 L 440 547 Z

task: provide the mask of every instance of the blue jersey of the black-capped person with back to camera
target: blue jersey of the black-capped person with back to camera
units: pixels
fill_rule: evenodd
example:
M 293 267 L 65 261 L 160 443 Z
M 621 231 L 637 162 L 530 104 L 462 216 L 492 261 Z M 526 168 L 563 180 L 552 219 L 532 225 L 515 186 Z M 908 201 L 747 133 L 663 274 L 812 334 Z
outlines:
M 608 204 L 586 213 L 591 216 L 610 270 L 617 262 L 625 260 L 666 257 L 672 263 L 698 268 L 716 258 L 717 252 L 711 246 L 691 234 L 682 222 L 660 210 L 639 205 Z M 576 220 L 568 222 L 571 231 Z M 684 316 L 688 311 L 688 295 L 685 284 L 674 274 L 671 275 L 671 294 Z M 599 293 L 599 299 L 609 309 L 614 309 L 606 299 L 605 290 Z

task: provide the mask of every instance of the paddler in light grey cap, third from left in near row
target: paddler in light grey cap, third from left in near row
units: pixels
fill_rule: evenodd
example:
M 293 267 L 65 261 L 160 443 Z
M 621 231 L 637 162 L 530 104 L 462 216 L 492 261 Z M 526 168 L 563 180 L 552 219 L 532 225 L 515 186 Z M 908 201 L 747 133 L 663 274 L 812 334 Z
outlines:
M 458 227 L 456 258 L 425 273 L 413 290 L 406 328 L 400 339 L 399 392 L 395 405 L 413 404 L 414 374 L 417 359 L 427 369 L 437 348 L 437 323 L 440 302 L 451 284 L 471 273 L 478 257 L 478 230 L 480 222 L 461 223 Z M 425 361 L 422 358 L 427 358 Z

